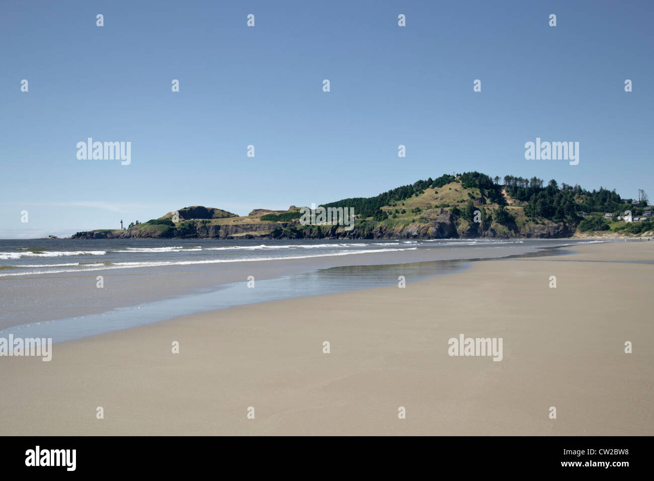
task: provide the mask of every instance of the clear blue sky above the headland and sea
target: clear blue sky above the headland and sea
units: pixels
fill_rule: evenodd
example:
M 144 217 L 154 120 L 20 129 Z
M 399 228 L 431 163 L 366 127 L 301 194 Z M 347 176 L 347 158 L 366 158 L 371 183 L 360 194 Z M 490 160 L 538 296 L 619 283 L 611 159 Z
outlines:
M 653 17 L 649 0 L 4 0 L 0 237 L 470 170 L 654 198 Z M 88 137 L 131 142 L 131 164 L 78 160 Z M 579 164 L 525 160 L 536 137 L 578 141 Z

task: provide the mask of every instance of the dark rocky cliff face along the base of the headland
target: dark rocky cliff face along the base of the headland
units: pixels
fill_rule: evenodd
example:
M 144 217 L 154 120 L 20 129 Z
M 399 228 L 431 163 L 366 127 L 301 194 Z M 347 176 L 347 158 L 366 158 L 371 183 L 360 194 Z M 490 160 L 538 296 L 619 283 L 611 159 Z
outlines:
M 183 226 L 139 224 L 128 230 L 77 232 L 73 239 L 450 239 L 450 238 L 562 238 L 574 234 L 566 223 L 525 223 L 504 226 L 469 224 L 455 220 L 447 211 L 422 222 L 408 224 L 357 223 L 352 230 L 343 226 L 303 226 L 298 220 L 277 223 L 211 224 L 186 221 Z

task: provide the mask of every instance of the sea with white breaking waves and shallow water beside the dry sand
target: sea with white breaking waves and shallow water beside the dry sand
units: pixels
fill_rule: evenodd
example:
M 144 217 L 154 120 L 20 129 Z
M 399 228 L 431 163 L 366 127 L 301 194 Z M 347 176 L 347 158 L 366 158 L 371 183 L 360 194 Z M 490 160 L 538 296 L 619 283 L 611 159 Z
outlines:
M 73 340 L 178 315 L 397 285 L 585 240 L 0 240 L 0 332 Z

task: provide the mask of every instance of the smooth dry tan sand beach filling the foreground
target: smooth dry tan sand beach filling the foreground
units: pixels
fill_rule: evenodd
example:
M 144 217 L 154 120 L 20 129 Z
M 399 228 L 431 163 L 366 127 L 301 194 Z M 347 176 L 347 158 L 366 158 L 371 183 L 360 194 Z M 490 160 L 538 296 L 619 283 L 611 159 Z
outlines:
M 568 249 L 3 357 L 0 435 L 653 435 L 654 242 Z

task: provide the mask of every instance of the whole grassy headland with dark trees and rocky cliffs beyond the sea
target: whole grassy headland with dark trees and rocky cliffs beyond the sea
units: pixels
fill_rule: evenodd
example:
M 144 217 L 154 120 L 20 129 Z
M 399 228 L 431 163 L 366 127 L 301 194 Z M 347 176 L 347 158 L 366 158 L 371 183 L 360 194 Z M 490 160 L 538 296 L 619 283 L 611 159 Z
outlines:
M 254 209 L 247 216 L 194 205 L 120 229 L 71 239 L 561 239 L 654 235 L 652 207 L 615 190 L 479 172 L 442 175 L 370 198 L 311 207 Z M 351 213 L 348 215 L 348 213 Z M 343 215 L 345 214 L 345 215 Z M 333 218 L 332 218 L 333 217 Z M 345 219 L 345 220 L 343 220 Z

